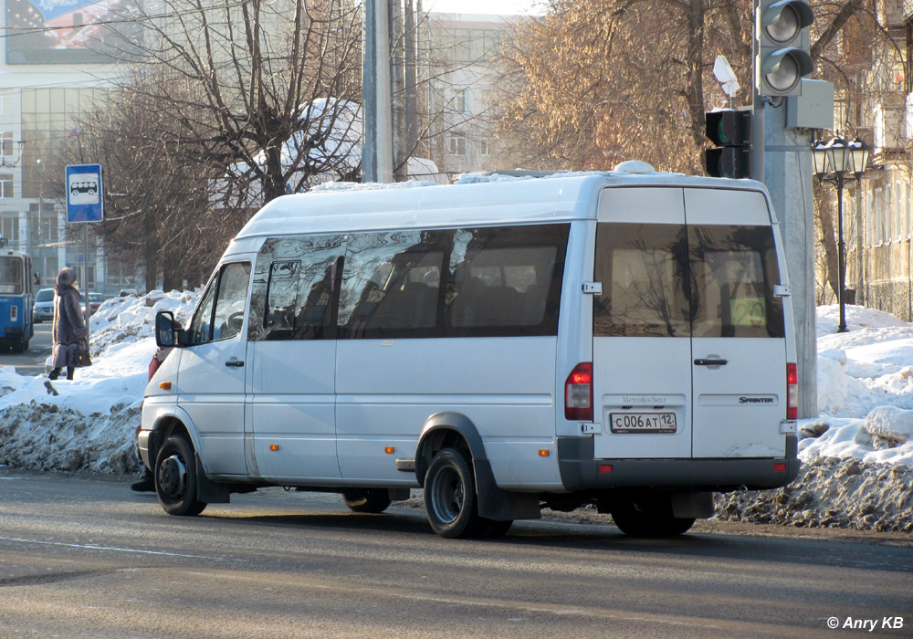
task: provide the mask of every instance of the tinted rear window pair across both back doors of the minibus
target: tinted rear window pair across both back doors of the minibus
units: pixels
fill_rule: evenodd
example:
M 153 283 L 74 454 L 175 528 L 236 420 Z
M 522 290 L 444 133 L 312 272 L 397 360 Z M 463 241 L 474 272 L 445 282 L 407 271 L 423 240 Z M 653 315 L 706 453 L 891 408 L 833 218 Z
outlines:
M 783 337 L 771 226 L 603 223 L 594 336 Z

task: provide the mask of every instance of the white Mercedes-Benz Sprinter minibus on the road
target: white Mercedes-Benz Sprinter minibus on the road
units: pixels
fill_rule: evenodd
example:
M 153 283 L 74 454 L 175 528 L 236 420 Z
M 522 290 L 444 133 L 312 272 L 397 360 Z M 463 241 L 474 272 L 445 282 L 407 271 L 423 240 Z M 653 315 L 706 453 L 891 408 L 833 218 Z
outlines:
M 625 171 L 624 169 L 627 169 Z M 450 538 L 594 504 L 680 534 L 798 473 L 782 239 L 761 183 L 609 173 L 279 197 L 146 389 L 159 501 L 424 488 Z

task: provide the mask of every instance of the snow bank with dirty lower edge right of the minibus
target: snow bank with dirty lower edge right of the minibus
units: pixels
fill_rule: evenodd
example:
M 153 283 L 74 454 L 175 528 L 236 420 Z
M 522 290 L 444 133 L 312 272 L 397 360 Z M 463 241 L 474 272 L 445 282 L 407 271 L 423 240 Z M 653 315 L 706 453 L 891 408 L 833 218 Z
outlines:
M 790 486 L 719 495 L 717 517 L 792 526 L 913 532 L 913 324 L 820 307 L 816 419 L 799 424 Z

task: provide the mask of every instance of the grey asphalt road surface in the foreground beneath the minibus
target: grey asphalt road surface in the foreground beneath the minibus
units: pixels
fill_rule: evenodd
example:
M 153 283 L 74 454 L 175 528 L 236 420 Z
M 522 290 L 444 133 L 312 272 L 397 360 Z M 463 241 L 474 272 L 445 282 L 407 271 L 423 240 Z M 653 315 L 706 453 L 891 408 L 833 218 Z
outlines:
M 173 518 L 128 482 L 0 467 L 0 637 L 913 634 L 909 535 L 534 521 L 459 541 L 419 509 L 280 488 Z

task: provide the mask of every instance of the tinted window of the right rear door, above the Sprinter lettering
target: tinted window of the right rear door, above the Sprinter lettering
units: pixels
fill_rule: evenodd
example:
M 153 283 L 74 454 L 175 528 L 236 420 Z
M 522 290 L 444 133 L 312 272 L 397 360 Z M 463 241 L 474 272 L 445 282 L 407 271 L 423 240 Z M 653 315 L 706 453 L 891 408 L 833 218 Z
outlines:
M 783 337 L 770 226 L 691 226 L 695 337 Z

